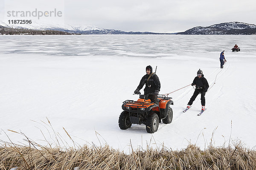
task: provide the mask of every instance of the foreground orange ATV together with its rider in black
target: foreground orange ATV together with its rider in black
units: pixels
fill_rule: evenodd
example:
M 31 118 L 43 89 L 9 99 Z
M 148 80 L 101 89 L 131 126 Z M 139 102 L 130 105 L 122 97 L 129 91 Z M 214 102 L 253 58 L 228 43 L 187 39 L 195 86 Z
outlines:
M 140 89 L 144 88 L 144 95 L 140 94 L 137 101 L 125 100 L 122 104 L 122 113 L 119 116 L 118 124 L 120 129 L 125 130 L 132 124 L 146 125 L 148 133 L 157 131 L 159 123 L 164 124 L 172 122 L 172 97 L 158 95 L 160 91 L 160 81 L 156 74 L 152 73 L 152 67 L 146 67 L 146 75 L 140 80 L 135 94 L 140 94 Z

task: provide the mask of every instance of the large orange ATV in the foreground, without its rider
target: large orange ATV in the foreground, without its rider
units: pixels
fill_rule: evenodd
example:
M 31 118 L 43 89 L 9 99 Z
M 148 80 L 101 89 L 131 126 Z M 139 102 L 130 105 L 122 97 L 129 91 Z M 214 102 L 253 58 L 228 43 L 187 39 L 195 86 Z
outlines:
M 125 100 L 122 104 L 122 113 L 119 116 L 120 129 L 128 129 L 131 124 L 144 124 L 148 133 L 154 133 L 158 129 L 159 122 L 163 119 L 164 124 L 172 122 L 172 108 L 173 105 L 171 97 L 164 95 L 158 95 L 157 99 L 159 105 L 152 103 L 150 99 L 147 99 L 147 95 L 141 95 L 140 99 Z

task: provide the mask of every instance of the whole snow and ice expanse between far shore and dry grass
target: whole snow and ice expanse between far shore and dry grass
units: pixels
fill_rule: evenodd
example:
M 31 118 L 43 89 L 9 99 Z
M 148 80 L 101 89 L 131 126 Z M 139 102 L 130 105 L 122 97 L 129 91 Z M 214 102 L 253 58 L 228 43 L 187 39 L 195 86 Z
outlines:
M 240 52 L 231 52 L 235 44 Z M 256 36 L 244 35 L 0 36 L 0 139 L 8 141 L 7 134 L 12 142 L 23 142 L 10 129 L 39 143 L 44 136 L 53 141 L 54 133 L 43 123 L 47 117 L 70 145 L 62 127 L 80 145 L 100 141 L 125 151 L 131 144 L 176 150 L 190 142 L 204 149 L 211 139 L 215 146 L 241 141 L 253 148 L 255 47 Z M 221 69 L 223 50 L 227 63 Z M 153 134 L 146 133 L 145 125 L 120 130 L 122 102 L 138 98 L 132 94 L 147 65 L 157 66 L 160 94 L 191 84 L 201 68 L 210 86 L 207 111 L 197 116 L 198 96 L 182 113 L 194 92 L 189 86 L 170 94 L 171 124 L 161 123 Z

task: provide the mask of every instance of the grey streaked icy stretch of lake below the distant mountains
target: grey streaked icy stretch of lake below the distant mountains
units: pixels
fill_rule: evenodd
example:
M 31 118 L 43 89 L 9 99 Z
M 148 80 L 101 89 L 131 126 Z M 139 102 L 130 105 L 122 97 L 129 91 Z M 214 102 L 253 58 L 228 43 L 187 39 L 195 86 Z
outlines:
M 242 51 L 256 52 L 256 36 L 251 35 L 15 35 L 0 38 L 3 54 L 171 57 L 230 51 L 235 43 L 241 44 Z

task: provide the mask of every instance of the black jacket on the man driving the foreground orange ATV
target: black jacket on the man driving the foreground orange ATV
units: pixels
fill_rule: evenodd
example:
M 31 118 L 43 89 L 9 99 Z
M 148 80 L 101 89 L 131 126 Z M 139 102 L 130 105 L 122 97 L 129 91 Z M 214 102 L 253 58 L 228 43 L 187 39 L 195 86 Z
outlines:
M 151 66 L 150 66 L 151 67 Z M 150 74 L 152 73 L 152 67 L 151 67 L 151 71 Z M 137 90 L 140 91 L 140 89 L 143 88 L 143 85 L 145 84 L 145 88 L 144 88 L 144 94 L 149 94 L 149 93 L 154 93 L 155 91 L 160 91 L 160 81 L 159 78 L 157 77 L 156 74 L 153 74 L 150 79 L 148 80 L 148 77 L 150 76 L 150 74 L 146 74 L 145 76 L 142 77 L 142 79 L 140 80 L 140 84 L 137 87 Z M 148 81 L 147 81 L 148 80 Z

